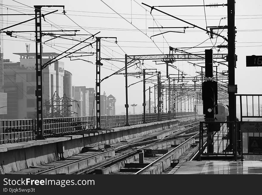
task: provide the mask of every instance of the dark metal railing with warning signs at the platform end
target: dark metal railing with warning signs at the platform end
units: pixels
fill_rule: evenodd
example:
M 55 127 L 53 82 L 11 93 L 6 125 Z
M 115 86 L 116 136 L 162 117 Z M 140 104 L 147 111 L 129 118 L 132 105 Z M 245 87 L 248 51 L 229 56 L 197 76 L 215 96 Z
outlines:
M 200 122 L 201 149 L 199 152 L 201 155 L 199 155 L 199 160 L 205 155 L 233 155 L 235 159 L 241 156 L 241 160 L 244 156 L 248 160 L 261 159 L 262 94 L 236 94 L 235 96 L 235 121 Z M 208 128 L 218 123 L 220 124 L 219 131 L 211 131 L 209 134 Z M 229 132 L 230 126 L 232 132 Z M 208 139 L 208 136 L 212 139 Z M 204 139 L 207 139 L 207 142 Z M 232 139 L 232 144 L 229 143 L 230 139 Z M 208 140 L 212 140 L 212 143 L 208 143 Z M 207 150 L 205 146 L 208 144 L 213 146 L 213 151 Z

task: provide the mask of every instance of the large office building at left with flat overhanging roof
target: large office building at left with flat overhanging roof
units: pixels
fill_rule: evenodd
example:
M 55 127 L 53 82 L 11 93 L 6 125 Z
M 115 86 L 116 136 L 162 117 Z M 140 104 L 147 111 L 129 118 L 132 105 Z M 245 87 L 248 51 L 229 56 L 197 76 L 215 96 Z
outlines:
M 36 71 L 35 53 L 14 53 L 20 56 L 20 63 L 4 62 L 4 92 L 7 93 L 7 115 L 4 119 L 36 118 Z M 57 53 L 43 53 L 45 63 Z M 63 97 L 64 63 L 57 61 L 43 69 L 43 103 L 54 92 Z M 44 115 L 50 107 L 43 106 Z

